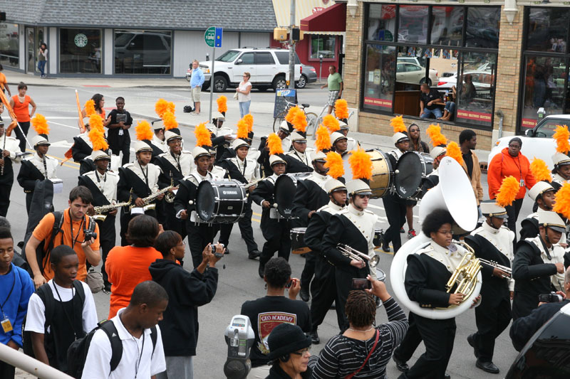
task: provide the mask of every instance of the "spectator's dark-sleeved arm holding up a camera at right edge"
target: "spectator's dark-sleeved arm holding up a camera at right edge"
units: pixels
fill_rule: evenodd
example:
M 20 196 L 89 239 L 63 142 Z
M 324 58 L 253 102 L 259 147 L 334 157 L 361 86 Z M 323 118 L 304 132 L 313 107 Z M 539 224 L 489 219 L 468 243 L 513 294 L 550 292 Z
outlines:
M 558 291 L 550 294 L 539 295 L 539 307 L 524 317 L 520 317 L 513 321 L 511 331 L 512 346 L 521 351 L 529 339 L 549 321 L 556 312 L 563 306 L 570 303 L 567 298 L 570 293 L 570 270 L 566 270 L 564 274 L 564 292 Z

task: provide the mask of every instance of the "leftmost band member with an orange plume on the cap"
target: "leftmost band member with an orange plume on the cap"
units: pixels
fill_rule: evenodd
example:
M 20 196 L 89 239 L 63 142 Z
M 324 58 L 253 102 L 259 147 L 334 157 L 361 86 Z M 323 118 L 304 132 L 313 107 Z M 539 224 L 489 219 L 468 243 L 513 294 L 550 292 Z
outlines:
M 36 187 L 36 180 L 57 178 L 56 169 L 58 168 L 58 160 L 47 156 L 49 150 L 47 122 L 43 125 L 33 125 L 38 133 L 31 139 L 31 145 L 36 150 L 32 156 L 26 156 L 22 160 L 20 172 L 18 173 L 18 183 L 24 188 L 26 193 L 26 210 L 30 213 L 31 199 L 33 190 Z

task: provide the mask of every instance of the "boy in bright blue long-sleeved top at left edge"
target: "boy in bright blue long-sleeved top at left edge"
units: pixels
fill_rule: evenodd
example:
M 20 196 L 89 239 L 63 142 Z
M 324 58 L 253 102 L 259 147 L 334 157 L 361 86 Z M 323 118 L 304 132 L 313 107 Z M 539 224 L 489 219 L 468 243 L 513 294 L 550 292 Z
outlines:
M 8 220 L 6 220 L 6 223 Z M 2 326 L 0 343 L 14 350 L 22 346 L 22 322 L 33 294 L 33 282 L 28 273 L 12 263 L 14 238 L 9 228 L 0 228 L 0 312 Z M 8 320 L 8 321 L 6 321 Z M 14 378 L 14 366 L 0 361 L 0 378 Z

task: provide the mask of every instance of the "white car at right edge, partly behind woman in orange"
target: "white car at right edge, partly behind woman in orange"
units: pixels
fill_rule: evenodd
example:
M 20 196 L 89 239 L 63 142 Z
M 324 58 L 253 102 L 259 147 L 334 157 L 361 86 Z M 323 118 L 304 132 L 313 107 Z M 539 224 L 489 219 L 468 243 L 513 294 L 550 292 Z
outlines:
M 522 154 L 527 156 L 530 161 L 534 157 L 542 159 L 550 169 L 553 169 L 552 156 L 556 153 L 556 142 L 552 138 L 552 134 L 554 134 L 556 125 L 570 126 L 570 114 L 551 114 L 546 116 L 537 123 L 536 127 L 528 129 L 524 136 L 518 136 L 522 140 Z M 512 137 L 497 139 L 489 153 L 488 162 L 491 161 L 493 156 L 499 154 L 502 149 L 509 146 L 509 141 Z

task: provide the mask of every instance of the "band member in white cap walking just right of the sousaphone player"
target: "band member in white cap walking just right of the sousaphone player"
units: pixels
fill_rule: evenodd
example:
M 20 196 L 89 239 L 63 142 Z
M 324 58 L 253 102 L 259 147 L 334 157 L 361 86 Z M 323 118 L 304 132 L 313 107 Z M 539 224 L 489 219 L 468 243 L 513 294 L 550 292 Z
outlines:
M 465 242 L 477 258 L 512 267 L 514 233 L 503 225 L 507 210 L 495 201 L 482 201 L 480 206 L 485 222 L 473 230 L 470 237 L 465 237 Z M 477 332 L 468 336 L 467 342 L 475 351 L 475 365 L 487 373 L 497 374 L 499 368 L 492 361 L 494 340 L 511 322 L 514 280 L 509 273 L 487 264 L 481 265 L 481 274 L 481 304 L 475 308 Z

